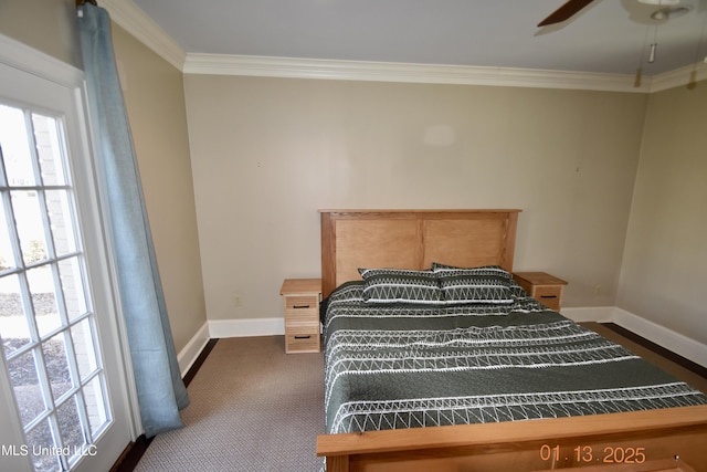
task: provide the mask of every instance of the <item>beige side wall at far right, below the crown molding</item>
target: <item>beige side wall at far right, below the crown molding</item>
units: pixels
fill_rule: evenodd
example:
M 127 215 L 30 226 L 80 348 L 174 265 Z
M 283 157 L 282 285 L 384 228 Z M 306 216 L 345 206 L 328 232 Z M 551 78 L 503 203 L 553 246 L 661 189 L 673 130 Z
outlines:
M 651 95 L 618 306 L 707 344 L 707 82 Z

